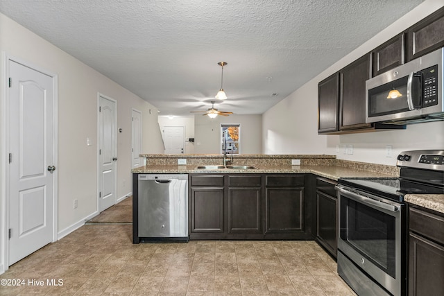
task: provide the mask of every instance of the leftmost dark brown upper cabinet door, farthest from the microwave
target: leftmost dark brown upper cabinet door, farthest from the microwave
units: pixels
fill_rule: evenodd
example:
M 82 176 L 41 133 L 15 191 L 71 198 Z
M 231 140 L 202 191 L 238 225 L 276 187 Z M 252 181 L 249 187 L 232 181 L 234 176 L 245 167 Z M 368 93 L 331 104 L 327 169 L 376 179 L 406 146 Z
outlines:
M 339 73 L 318 84 L 318 133 L 339 130 Z

